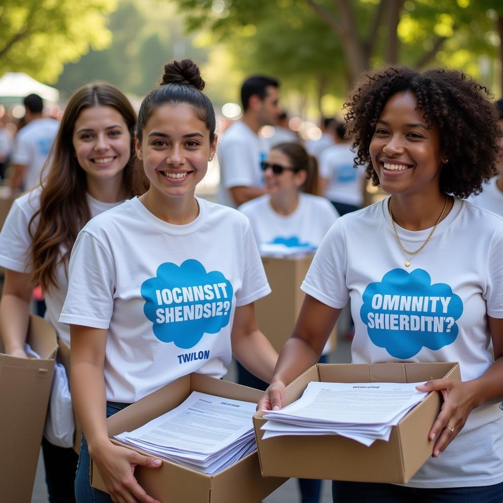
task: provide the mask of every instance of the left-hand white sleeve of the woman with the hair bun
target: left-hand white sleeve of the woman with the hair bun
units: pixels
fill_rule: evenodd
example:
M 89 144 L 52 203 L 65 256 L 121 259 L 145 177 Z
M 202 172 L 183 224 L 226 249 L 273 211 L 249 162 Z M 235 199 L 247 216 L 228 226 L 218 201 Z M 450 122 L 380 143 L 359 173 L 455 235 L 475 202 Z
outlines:
M 115 263 L 90 232 L 80 231 L 68 268 L 68 293 L 60 323 L 108 328 L 114 308 Z

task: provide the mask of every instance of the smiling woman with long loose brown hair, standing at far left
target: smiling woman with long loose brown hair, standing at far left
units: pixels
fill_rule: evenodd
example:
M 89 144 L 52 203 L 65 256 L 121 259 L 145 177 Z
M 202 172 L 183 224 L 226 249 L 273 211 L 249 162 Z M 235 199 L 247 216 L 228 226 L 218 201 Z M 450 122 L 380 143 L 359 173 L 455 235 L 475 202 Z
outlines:
M 33 287 L 41 285 L 46 319 L 69 344 L 58 322 L 68 288 L 68 260 L 79 230 L 94 216 L 142 194 L 146 178 L 134 171 L 131 131 L 136 114 L 114 86 L 95 82 L 70 98 L 42 185 L 14 201 L 0 233 L 0 266 L 6 269 L 0 329 L 7 354 L 24 349 Z M 42 442 L 51 503 L 74 501 L 77 456 Z

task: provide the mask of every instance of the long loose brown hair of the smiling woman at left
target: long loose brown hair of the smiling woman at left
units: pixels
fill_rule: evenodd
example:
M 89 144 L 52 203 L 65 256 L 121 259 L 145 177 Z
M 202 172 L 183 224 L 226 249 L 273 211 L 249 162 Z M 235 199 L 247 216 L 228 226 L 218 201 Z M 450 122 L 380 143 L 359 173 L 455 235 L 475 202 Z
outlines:
M 33 264 L 30 280 L 33 284 L 40 284 L 44 291 L 50 285 L 58 286 L 56 267 L 69 259 L 79 230 L 91 218 L 86 198 L 86 173 L 74 155 L 72 137 L 80 112 L 97 106 L 115 108 L 124 118 L 130 133 L 136 123 L 136 114 L 128 99 L 106 82 L 82 86 L 68 101 L 45 166 L 48 173 L 42 183 L 40 207 L 29 224 Z M 147 190 L 148 181 L 143 170 L 135 168 L 132 134 L 130 160 L 123 173 L 124 184 L 131 196 L 141 195 Z M 36 219 L 38 223 L 35 223 Z

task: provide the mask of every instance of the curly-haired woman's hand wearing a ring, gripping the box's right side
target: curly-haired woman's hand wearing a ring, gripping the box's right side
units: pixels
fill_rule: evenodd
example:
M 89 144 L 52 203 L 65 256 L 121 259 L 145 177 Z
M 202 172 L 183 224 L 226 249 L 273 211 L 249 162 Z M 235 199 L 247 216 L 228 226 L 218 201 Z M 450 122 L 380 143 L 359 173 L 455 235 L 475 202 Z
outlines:
M 440 391 L 444 398 L 442 409 L 430 430 L 430 440 L 435 440 L 433 456 L 438 458 L 465 426 L 468 414 L 479 405 L 473 381 L 435 379 L 422 386 L 420 391 Z

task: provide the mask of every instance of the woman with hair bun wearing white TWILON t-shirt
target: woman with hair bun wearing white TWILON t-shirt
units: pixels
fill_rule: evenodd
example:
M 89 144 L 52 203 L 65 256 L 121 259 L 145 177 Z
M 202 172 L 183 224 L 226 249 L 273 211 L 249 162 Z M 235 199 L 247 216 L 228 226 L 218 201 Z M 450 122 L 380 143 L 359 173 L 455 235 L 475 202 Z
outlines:
M 270 288 L 249 222 L 194 196 L 217 144 L 204 81 L 188 59 L 164 70 L 135 131 L 150 187 L 89 222 L 70 258 L 60 321 L 84 433 L 78 503 L 155 501 L 133 471 L 161 461 L 112 444 L 107 416 L 191 372 L 220 378 L 232 354 L 265 381 L 277 359 L 255 321 Z M 90 455 L 110 495 L 90 487 Z

